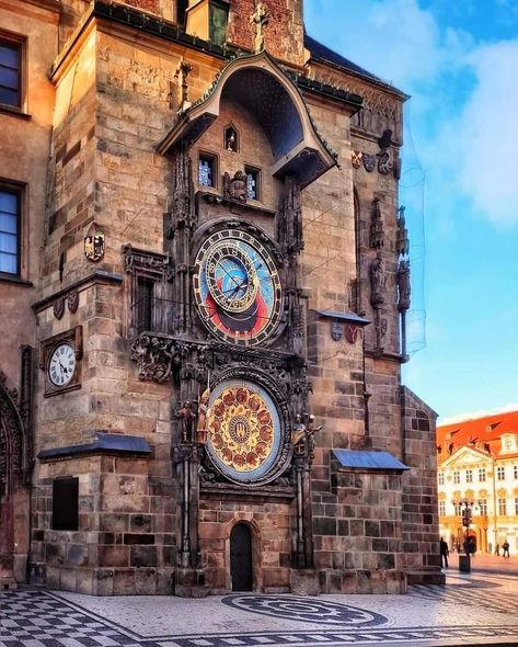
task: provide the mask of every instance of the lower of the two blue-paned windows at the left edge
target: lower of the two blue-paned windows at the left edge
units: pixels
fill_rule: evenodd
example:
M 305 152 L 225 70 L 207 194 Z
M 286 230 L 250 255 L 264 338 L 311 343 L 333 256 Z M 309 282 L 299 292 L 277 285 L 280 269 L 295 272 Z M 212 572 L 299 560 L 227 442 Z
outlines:
M 0 184 L 0 276 L 20 275 L 22 190 Z

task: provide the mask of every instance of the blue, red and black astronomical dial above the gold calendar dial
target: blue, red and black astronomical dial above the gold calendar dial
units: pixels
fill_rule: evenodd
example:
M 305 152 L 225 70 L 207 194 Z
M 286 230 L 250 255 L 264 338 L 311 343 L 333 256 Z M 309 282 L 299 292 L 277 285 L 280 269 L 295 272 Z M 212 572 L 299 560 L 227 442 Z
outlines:
M 280 318 L 280 279 L 272 254 L 239 229 L 217 231 L 204 242 L 195 260 L 194 294 L 207 328 L 232 343 L 262 343 Z

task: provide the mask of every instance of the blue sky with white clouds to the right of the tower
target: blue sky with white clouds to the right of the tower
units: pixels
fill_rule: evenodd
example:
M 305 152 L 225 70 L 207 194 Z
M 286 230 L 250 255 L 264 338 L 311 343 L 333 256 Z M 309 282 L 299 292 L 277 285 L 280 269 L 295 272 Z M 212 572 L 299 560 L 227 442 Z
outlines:
M 403 168 L 425 178 L 406 198 L 426 345 L 404 383 L 439 423 L 518 409 L 518 0 L 306 0 L 304 22 L 412 94 Z

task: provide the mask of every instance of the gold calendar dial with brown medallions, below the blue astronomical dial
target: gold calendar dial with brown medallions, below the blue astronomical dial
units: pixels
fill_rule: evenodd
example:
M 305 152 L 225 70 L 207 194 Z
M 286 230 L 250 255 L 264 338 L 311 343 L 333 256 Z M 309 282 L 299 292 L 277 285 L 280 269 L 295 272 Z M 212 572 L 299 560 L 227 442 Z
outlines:
M 210 395 L 207 452 L 234 483 L 262 480 L 281 446 L 280 419 L 269 394 L 252 382 L 226 381 Z

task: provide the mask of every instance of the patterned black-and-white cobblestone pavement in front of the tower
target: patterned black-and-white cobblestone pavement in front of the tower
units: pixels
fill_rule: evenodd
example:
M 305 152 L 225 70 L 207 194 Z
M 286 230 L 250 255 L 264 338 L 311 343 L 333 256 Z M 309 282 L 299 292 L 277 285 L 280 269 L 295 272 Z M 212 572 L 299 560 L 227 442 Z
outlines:
M 518 645 L 518 578 L 449 574 L 408 595 L 186 600 L 0 592 L 0 647 Z

